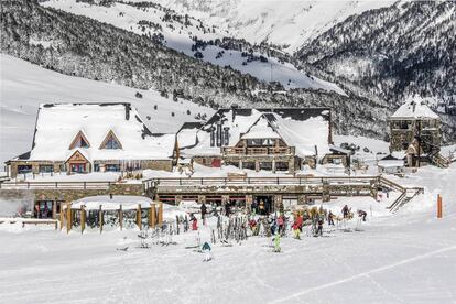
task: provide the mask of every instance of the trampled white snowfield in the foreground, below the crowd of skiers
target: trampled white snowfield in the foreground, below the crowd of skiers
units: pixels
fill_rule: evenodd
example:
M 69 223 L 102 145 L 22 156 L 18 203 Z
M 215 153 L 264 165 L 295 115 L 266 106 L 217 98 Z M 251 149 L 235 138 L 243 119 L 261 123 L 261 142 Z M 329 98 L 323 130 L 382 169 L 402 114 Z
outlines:
M 273 253 L 268 238 L 213 246 L 214 260 L 186 249 L 198 235 L 174 237 L 177 245 L 140 249 L 134 230 L 69 235 L 53 227 L 0 225 L 0 298 L 4 303 L 454 303 L 456 290 L 456 164 L 423 169 L 413 183 L 425 195 L 392 215 L 388 204 L 341 198 L 368 211 L 362 231 L 328 229 L 282 239 Z M 401 180 L 404 181 L 404 180 Z M 444 217 L 436 219 L 436 193 Z M 211 225 L 214 221 L 210 220 Z M 348 224 L 355 228 L 358 224 Z M 208 228 L 200 229 L 207 240 Z M 127 251 L 117 248 L 129 247 Z

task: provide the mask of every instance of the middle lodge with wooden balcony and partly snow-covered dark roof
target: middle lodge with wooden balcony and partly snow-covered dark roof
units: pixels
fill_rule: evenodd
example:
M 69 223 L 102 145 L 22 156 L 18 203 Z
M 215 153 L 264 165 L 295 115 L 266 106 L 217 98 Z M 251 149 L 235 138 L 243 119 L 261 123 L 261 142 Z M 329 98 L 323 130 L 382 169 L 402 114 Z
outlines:
M 333 144 L 329 108 L 220 109 L 204 124 L 184 124 L 177 145 L 181 160 L 274 173 L 350 159 Z

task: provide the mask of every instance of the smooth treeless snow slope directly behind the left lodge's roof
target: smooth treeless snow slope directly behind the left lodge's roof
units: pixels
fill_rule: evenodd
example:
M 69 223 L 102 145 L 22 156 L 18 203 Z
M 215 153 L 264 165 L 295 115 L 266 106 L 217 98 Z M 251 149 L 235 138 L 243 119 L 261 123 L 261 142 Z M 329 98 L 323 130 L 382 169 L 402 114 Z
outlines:
M 183 122 L 195 121 L 197 113 L 214 113 L 158 91 L 66 76 L 4 54 L 0 66 L 0 162 L 30 151 L 42 102 L 131 102 L 152 132 L 163 133 L 176 132 Z M 142 98 L 134 97 L 137 91 Z

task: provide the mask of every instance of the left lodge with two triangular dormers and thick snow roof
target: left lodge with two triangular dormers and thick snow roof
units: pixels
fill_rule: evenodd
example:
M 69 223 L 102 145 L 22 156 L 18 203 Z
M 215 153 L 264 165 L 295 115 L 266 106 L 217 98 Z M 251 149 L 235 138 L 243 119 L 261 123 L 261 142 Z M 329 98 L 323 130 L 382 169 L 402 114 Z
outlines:
M 172 171 L 175 135 L 153 134 L 130 104 L 46 104 L 31 151 L 7 162 L 9 174 Z

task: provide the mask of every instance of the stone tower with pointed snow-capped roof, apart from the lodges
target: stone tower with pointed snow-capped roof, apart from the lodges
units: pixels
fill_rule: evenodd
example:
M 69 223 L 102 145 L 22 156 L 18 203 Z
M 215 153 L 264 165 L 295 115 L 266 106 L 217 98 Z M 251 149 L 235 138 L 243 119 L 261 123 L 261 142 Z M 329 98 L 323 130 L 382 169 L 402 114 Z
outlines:
M 410 98 L 389 119 L 390 152 L 409 167 L 448 166 L 441 152 L 441 119 L 420 98 Z M 399 156 L 398 156 L 399 155 Z

